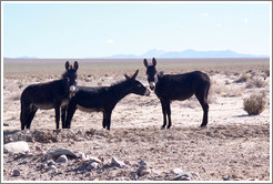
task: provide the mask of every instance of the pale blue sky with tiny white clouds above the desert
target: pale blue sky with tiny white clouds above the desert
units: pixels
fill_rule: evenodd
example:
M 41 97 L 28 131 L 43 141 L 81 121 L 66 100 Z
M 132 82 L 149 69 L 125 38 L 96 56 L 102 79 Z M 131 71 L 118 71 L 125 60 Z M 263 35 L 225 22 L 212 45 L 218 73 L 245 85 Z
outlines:
M 3 57 L 165 51 L 271 54 L 271 3 L 2 3 Z

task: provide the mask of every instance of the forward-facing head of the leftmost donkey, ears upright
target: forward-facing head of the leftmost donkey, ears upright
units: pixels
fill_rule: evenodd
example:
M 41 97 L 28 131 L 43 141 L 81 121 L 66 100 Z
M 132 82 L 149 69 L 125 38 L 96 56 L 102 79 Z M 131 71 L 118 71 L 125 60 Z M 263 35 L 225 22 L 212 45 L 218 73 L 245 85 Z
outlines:
M 72 67 L 67 61 L 65 62 L 65 69 L 67 69 L 67 71 L 62 74 L 62 79 L 69 85 L 70 96 L 73 96 L 75 93 L 75 85 L 77 85 L 77 79 L 78 79 L 77 70 L 79 69 L 79 63 L 75 61 L 74 67 Z

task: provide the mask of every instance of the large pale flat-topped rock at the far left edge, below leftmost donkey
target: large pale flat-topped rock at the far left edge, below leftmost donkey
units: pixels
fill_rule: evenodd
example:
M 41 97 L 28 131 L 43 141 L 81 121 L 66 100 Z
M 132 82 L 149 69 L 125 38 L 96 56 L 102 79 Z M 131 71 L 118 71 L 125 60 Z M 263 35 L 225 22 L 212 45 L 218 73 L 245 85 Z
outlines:
M 3 145 L 3 153 L 26 153 L 29 152 L 29 145 L 24 141 L 11 142 Z

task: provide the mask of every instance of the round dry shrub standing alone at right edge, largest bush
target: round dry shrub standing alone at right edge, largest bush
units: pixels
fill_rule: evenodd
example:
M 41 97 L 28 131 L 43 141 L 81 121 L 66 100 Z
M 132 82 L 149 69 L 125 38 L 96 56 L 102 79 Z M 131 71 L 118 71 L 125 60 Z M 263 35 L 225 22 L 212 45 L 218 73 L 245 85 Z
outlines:
M 265 101 L 262 95 L 252 94 L 249 99 L 244 99 L 244 111 L 249 115 L 257 115 L 265 109 Z

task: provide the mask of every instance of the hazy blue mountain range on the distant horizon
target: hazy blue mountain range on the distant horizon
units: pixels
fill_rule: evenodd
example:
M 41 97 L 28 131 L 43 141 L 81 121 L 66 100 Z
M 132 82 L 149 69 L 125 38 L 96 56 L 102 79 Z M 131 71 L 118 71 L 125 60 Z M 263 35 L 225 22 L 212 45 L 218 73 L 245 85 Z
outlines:
M 192 49 L 185 51 L 163 51 L 152 49 L 142 55 L 134 54 L 115 54 L 107 57 L 111 59 L 142 59 L 142 58 L 161 58 L 161 59 L 182 59 L 182 58 L 269 58 L 269 55 L 242 54 L 231 50 L 223 51 L 195 51 Z

